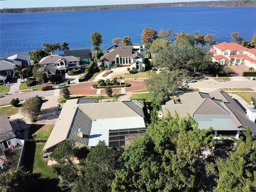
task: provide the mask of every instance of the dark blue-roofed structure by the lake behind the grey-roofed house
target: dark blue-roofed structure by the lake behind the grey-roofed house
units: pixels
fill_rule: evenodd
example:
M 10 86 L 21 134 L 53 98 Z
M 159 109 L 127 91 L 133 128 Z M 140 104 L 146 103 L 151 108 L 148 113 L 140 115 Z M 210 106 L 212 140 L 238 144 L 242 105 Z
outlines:
M 67 50 L 65 56 L 74 56 L 80 59 L 81 65 L 89 64 L 92 60 L 92 52 L 90 49 Z

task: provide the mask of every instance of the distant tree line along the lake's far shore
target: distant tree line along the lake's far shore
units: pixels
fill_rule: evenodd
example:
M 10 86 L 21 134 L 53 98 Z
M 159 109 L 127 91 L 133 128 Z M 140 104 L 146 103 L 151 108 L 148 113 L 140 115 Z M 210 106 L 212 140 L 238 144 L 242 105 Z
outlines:
M 1 9 L 0 13 L 25 13 L 25 12 L 57 12 L 57 11 L 89 11 L 89 10 L 110 10 L 129 9 L 140 7 L 166 7 L 166 6 L 255 6 L 253 0 L 246 1 L 209 1 L 209 2 L 179 2 L 179 3 L 149 3 L 131 5 L 98 5 L 98 6 L 71 6 L 71 7 L 38 7 L 21 9 Z

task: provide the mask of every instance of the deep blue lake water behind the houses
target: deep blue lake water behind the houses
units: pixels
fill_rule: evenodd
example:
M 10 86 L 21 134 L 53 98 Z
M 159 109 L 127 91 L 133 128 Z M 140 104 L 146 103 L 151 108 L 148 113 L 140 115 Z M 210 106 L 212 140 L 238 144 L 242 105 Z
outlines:
M 183 6 L 77 12 L 1 14 L 0 55 L 42 49 L 42 43 L 66 41 L 69 47 L 91 47 L 90 34 L 100 31 L 102 49 L 114 37 L 128 35 L 139 43 L 146 26 L 155 30 L 201 31 L 229 41 L 239 31 L 250 39 L 256 31 L 256 7 Z

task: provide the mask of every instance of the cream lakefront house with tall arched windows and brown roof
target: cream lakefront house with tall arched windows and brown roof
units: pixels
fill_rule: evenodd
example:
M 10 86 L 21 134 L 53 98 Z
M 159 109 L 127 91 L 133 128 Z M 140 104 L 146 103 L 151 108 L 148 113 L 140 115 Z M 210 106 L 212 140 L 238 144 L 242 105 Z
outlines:
M 100 57 L 98 66 L 131 66 L 136 70 L 145 70 L 145 50 L 140 45 L 112 46 Z

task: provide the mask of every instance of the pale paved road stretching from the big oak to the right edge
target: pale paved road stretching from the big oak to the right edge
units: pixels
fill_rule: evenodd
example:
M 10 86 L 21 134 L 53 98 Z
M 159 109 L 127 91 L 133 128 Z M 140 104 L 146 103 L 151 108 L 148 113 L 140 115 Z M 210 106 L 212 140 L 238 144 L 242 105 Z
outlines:
M 189 83 L 189 87 L 194 88 L 224 88 L 224 87 L 256 87 L 256 81 L 226 81 L 218 82 L 214 80 L 206 80 L 202 82 Z

